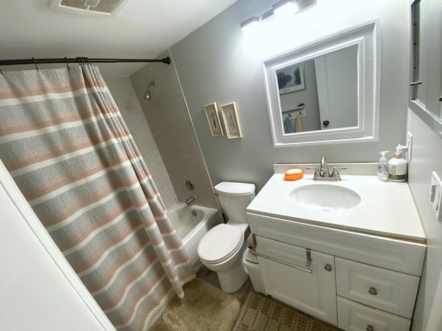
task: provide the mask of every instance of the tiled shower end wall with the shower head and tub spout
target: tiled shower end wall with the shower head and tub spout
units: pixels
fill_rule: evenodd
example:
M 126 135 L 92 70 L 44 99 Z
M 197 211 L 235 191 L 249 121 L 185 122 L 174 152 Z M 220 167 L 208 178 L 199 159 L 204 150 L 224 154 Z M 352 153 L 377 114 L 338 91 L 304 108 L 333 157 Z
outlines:
M 168 56 L 169 52 L 165 52 L 161 57 Z M 147 101 L 143 95 L 151 80 L 155 87 L 151 87 L 151 100 Z M 149 63 L 132 74 L 131 81 L 178 201 L 184 202 L 193 194 L 196 204 L 218 208 L 173 63 Z M 186 180 L 193 183 L 195 190 L 186 188 Z

